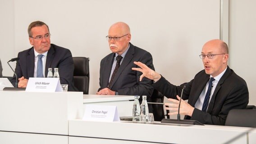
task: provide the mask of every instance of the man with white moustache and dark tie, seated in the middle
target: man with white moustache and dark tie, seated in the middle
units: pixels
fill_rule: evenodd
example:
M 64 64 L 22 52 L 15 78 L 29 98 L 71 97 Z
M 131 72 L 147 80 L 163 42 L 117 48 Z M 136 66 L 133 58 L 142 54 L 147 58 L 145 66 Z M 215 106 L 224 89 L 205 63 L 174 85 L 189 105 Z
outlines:
M 131 34 L 126 23 L 114 23 L 110 27 L 106 38 L 109 41 L 112 53 L 101 60 L 100 88 L 97 94 L 147 95 L 150 97 L 154 90 L 150 85 L 153 81 L 147 78 L 144 81 L 139 81 L 142 73 L 133 71 L 132 67 L 136 67 L 134 61 L 142 61 L 148 67 L 154 69 L 151 54 L 129 42 Z M 122 56 L 120 67 L 114 72 L 118 56 Z

